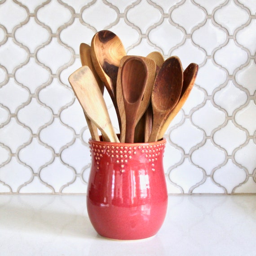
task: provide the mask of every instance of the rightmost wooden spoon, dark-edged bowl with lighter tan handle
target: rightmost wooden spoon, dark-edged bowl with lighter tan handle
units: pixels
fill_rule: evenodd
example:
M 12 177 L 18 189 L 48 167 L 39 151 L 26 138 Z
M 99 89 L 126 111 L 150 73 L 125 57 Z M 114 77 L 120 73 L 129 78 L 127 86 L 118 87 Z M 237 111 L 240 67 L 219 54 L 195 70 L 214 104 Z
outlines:
M 187 98 L 189 97 L 190 92 L 194 86 L 197 73 L 198 73 L 198 65 L 195 63 L 190 63 L 190 65 L 187 66 L 187 68 L 183 72 L 183 85 L 182 85 L 180 99 L 177 105 L 172 110 L 171 114 L 166 119 L 165 123 L 163 124 L 163 127 L 161 128 L 158 135 L 158 140 L 163 138 L 163 135 L 166 132 L 169 124 L 172 122 L 172 119 L 178 114 L 178 112 L 181 110 L 182 106 L 186 102 Z

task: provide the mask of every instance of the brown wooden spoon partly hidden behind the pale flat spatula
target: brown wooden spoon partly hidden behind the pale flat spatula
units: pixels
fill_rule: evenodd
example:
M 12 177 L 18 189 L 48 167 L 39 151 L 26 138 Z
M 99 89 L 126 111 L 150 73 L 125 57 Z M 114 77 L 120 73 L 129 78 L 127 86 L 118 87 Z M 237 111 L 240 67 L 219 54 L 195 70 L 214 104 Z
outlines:
M 91 57 L 91 46 L 88 44 L 80 44 L 80 60 L 82 63 L 82 66 L 88 66 L 90 70 L 93 72 L 93 75 L 97 81 L 97 84 L 99 88 L 101 89 L 102 94 L 104 93 L 104 84 L 100 77 L 98 76 L 94 66 L 93 66 L 93 61 Z M 88 118 L 88 116 L 84 113 L 86 122 L 88 124 L 89 131 L 91 133 L 92 139 L 95 141 L 100 141 L 100 137 L 98 134 L 98 129 L 95 124 Z

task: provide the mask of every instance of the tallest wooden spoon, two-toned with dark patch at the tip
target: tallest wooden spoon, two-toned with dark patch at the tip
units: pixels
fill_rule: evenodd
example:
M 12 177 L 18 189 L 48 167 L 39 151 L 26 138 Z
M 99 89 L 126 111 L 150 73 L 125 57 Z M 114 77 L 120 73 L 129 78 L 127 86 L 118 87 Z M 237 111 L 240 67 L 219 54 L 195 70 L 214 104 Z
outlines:
M 97 32 L 93 36 L 91 45 L 93 65 L 112 99 L 121 129 L 121 114 L 116 99 L 116 79 L 119 62 L 126 55 L 124 45 L 115 33 L 108 30 Z

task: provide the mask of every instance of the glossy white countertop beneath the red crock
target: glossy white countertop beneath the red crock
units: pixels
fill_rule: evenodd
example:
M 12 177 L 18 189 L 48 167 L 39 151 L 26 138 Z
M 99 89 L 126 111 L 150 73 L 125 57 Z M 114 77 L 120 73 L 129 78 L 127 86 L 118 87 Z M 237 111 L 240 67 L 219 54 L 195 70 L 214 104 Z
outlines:
M 252 256 L 255 195 L 170 195 L 153 238 L 100 237 L 85 195 L 0 195 L 1 256 Z

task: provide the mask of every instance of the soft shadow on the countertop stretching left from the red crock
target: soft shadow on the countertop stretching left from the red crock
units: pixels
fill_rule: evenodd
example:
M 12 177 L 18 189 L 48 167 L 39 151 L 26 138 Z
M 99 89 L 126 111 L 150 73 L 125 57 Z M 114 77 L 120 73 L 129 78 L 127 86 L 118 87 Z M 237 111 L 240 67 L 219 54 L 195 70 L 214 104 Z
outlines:
M 24 205 L 0 205 L 0 233 L 4 230 L 13 233 L 36 233 L 53 236 L 95 238 L 96 231 L 83 214 L 44 210 Z

